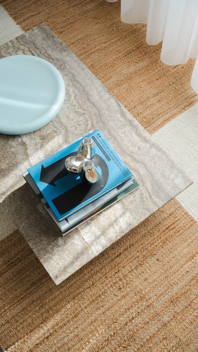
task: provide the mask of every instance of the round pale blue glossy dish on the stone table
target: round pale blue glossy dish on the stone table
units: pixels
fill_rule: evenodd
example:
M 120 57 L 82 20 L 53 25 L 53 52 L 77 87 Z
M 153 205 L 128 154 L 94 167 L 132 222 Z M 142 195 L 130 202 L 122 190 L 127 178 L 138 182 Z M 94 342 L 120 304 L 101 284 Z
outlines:
M 0 59 L 0 133 L 38 130 L 59 112 L 65 98 L 63 77 L 37 56 Z

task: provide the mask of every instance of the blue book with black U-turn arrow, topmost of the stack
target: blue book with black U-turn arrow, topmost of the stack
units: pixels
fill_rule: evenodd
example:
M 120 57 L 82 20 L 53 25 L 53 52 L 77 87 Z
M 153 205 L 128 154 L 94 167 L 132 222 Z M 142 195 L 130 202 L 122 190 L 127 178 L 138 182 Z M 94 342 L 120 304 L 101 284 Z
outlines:
M 78 175 L 69 174 L 64 165 L 65 159 L 77 155 L 84 137 L 27 169 L 59 221 L 126 180 L 135 178 L 100 130 L 87 137 L 94 141 L 96 149 L 91 161 L 102 171 L 96 183 L 85 184 Z

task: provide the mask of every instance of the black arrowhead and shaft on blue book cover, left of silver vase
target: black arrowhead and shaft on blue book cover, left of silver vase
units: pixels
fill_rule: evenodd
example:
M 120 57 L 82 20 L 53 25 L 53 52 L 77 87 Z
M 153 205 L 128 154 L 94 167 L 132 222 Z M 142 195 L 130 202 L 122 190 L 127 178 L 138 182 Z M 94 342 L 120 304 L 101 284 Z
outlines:
M 65 168 L 65 159 L 67 159 L 69 156 L 75 155 L 77 155 L 77 151 L 70 153 L 69 155 L 65 155 L 63 158 L 55 161 L 51 165 L 46 166 L 46 168 L 42 164 L 39 181 L 51 184 L 51 186 L 56 187 L 55 182 L 60 180 L 60 178 L 68 175 L 68 171 Z

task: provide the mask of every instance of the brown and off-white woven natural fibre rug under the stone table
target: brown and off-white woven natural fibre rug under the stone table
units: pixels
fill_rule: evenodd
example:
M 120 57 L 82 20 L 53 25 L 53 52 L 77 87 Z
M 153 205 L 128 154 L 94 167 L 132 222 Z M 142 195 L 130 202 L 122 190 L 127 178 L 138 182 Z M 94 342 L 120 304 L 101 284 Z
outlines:
M 195 181 L 58 286 L 0 205 L 2 351 L 198 351 L 195 59 L 163 64 L 119 1 L 1 5 L 0 43 L 45 22 Z

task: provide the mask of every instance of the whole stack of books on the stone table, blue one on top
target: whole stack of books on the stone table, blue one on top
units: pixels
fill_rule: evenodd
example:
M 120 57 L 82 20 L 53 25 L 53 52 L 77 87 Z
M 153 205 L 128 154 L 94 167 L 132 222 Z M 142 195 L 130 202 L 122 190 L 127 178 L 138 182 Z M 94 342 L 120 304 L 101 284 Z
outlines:
M 84 137 L 93 140 L 95 155 L 91 161 L 102 172 L 93 184 L 85 184 L 79 175 L 71 175 L 65 168 L 65 160 L 77 155 Z M 31 166 L 23 177 L 63 235 L 139 187 L 135 176 L 100 130 L 88 132 Z

